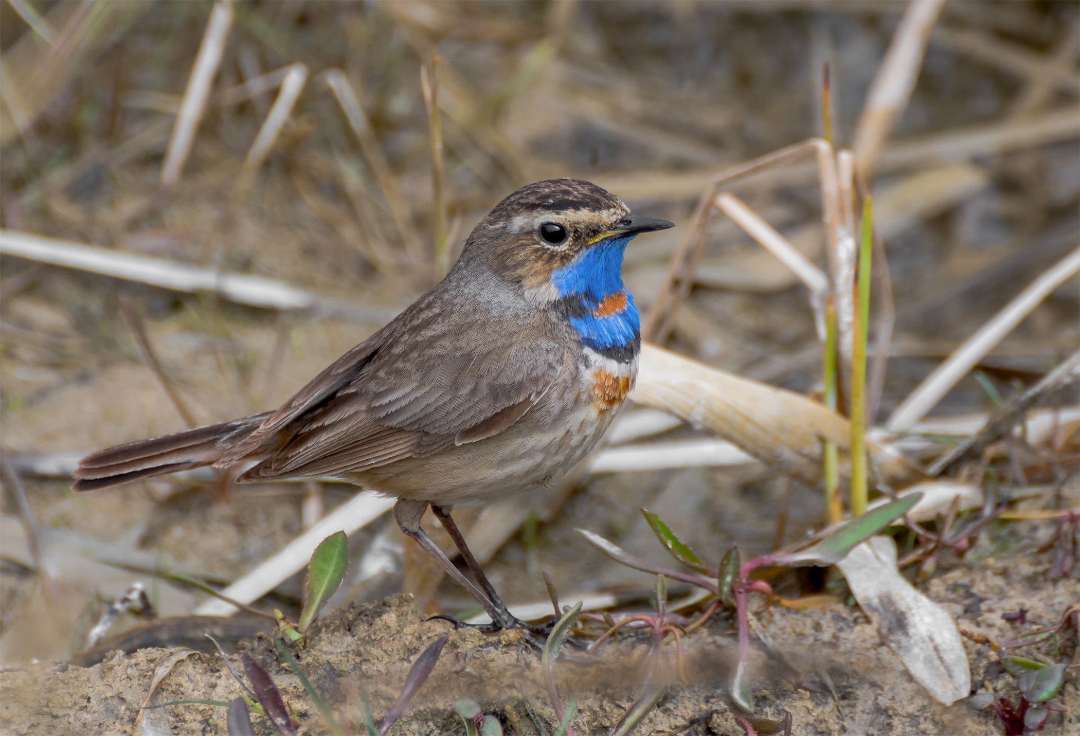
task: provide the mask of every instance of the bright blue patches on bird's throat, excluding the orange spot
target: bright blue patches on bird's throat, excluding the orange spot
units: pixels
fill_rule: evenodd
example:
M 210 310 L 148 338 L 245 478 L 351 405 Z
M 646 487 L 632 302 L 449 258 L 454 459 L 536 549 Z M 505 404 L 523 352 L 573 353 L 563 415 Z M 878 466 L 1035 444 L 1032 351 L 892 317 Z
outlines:
M 563 268 L 552 272 L 551 283 L 563 298 L 580 297 L 583 313 L 571 313 L 570 325 L 582 343 L 598 351 L 626 347 L 640 338 L 640 320 L 634 297 L 622 285 L 622 256 L 637 233 L 609 238 L 590 246 Z M 605 297 L 626 294 L 626 305 L 612 315 L 594 312 Z

